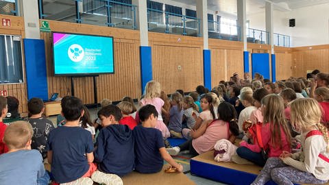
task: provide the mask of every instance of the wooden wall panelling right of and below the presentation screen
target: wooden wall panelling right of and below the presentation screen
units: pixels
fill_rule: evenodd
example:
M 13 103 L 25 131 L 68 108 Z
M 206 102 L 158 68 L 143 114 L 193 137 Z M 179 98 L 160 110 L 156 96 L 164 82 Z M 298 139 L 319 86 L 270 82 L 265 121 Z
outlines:
M 141 97 L 139 42 L 118 41 L 114 40 L 114 74 L 97 77 L 99 101 L 104 98 L 118 101 L 124 96 Z

